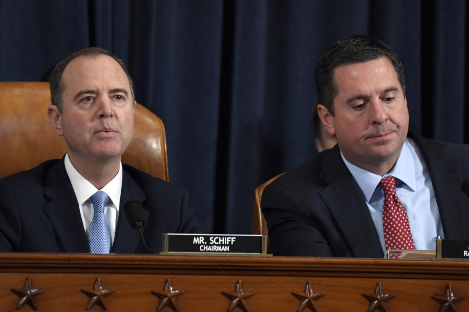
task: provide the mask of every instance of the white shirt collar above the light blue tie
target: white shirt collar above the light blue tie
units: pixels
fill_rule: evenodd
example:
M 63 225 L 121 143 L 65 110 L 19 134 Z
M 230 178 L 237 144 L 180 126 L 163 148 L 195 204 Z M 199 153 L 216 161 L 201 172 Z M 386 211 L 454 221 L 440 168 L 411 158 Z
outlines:
M 93 184 L 86 180 L 85 177 L 75 169 L 75 167 L 73 167 L 70 159 L 68 158 L 68 153 L 65 154 L 64 163 L 68 178 L 70 179 L 73 191 L 77 197 L 78 205 L 83 205 L 89 197 L 97 191 L 103 191 L 106 192 L 111 199 L 112 203 L 109 203 L 109 206 L 114 207 L 119 211 L 119 202 L 122 190 L 122 163 L 120 163 L 117 175 L 114 176 L 101 190 L 98 190 Z

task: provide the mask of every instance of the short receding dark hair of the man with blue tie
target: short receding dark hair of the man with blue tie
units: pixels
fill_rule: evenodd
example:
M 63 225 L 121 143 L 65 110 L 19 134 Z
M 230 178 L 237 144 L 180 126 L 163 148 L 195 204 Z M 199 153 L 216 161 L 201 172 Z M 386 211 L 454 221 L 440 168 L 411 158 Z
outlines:
M 64 82 L 62 81 L 62 75 L 64 74 L 65 67 L 68 65 L 68 63 L 70 63 L 72 59 L 76 59 L 80 56 L 98 55 L 107 55 L 115 59 L 115 61 L 118 62 L 119 65 L 121 65 L 122 69 L 127 75 L 128 83 L 130 84 L 130 92 L 132 93 L 132 103 L 135 106 L 135 93 L 133 91 L 133 82 L 132 78 L 130 78 L 130 74 L 128 73 L 124 62 L 105 49 L 90 47 L 79 51 L 75 51 L 65 59 L 62 59 L 60 62 L 57 63 L 57 65 L 55 65 L 54 69 L 52 70 L 52 73 L 50 74 L 50 97 L 52 100 L 52 105 L 57 106 L 59 112 L 62 112 L 63 110 L 62 95 L 64 93 Z

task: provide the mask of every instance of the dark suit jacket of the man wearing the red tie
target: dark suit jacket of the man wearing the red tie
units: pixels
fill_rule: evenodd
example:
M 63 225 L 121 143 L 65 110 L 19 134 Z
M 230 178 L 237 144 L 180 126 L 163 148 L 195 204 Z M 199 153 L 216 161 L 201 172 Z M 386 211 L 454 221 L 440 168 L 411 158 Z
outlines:
M 469 239 L 469 146 L 412 136 L 424 155 L 447 239 Z M 278 177 L 262 194 L 274 255 L 384 257 L 358 183 L 336 145 Z

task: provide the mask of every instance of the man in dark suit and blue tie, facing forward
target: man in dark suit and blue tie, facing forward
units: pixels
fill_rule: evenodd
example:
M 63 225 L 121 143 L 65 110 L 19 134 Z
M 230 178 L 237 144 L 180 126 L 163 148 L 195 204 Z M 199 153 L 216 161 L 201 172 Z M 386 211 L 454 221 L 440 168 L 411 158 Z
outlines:
M 201 232 L 186 191 L 121 163 L 135 106 L 122 60 L 77 51 L 57 64 L 50 86 L 48 116 L 67 153 L 0 179 L 0 251 L 145 253 L 124 213 L 129 199 L 143 205 L 154 252 L 162 233 Z

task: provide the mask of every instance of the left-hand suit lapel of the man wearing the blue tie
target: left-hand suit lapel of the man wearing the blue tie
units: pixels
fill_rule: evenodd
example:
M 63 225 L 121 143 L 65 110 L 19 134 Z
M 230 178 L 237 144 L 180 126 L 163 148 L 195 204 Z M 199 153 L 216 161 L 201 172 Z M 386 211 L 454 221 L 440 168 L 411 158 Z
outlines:
M 63 159 L 49 169 L 44 195 L 51 198 L 43 205 L 43 211 L 54 227 L 59 250 L 65 253 L 89 253 L 78 202 Z

